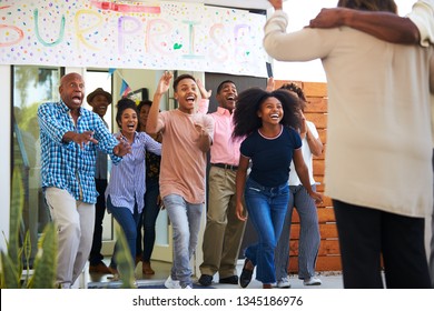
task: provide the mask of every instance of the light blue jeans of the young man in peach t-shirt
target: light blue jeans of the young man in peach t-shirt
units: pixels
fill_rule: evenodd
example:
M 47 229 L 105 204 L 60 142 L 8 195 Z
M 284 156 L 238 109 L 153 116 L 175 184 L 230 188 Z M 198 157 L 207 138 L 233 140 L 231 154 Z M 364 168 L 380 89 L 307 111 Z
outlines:
M 171 279 L 184 288 L 193 287 L 190 259 L 195 253 L 204 204 L 188 203 L 181 195 L 169 194 L 162 198 L 174 228 L 174 265 Z

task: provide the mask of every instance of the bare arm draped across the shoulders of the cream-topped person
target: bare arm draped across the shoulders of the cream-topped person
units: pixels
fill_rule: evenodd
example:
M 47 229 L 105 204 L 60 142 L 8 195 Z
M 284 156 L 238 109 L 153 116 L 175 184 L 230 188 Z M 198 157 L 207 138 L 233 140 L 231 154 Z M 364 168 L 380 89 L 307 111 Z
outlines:
M 346 8 L 322 9 L 310 20 L 312 28 L 352 27 L 392 43 L 416 44 L 420 31 L 410 18 L 389 12 L 359 11 Z

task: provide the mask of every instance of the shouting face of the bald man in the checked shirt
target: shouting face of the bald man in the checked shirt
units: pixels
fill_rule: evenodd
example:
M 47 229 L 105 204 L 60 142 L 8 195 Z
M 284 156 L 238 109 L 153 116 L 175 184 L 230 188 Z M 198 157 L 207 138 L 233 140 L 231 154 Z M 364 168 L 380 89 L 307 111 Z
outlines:
M 85 98 L 85 81 L 78 73 L 69 73 L 60 80 L 60 98 L 72 111 L 78 111 Z

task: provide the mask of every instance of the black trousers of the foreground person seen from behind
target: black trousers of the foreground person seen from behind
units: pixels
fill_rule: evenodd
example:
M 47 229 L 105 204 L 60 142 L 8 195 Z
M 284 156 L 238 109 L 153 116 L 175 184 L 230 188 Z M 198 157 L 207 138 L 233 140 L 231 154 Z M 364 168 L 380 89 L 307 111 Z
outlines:
M 333 200 L 346 289 L 431 288 L 423 218 Z

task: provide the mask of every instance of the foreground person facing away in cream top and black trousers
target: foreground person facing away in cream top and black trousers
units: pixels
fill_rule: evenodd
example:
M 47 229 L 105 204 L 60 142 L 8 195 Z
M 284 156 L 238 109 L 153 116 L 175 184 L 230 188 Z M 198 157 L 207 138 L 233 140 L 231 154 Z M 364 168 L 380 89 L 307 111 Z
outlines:
M 277 9 L 265 26 L 267 52 L 286 61 L 319 58 L 326 71 L 325 194 L 333 199 L 344 287 L 383 288 L 383 258 L 387 288 L 431 288 L 424 218 L 433 209 L 433 48 L 346 27 L 286 34 L 282 0 L 270 2 Z M 394 2 L 339 3 L 381 11 Z

